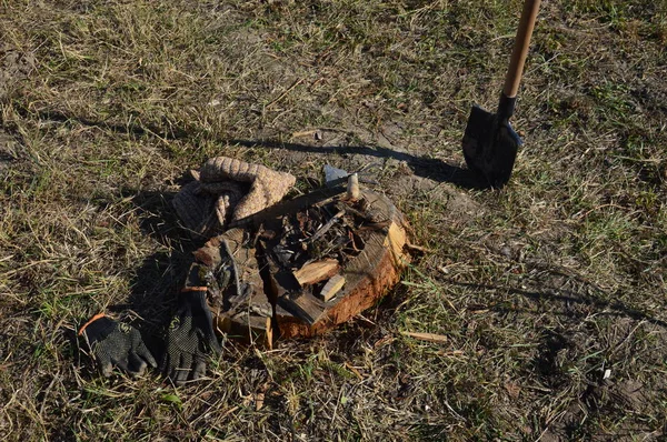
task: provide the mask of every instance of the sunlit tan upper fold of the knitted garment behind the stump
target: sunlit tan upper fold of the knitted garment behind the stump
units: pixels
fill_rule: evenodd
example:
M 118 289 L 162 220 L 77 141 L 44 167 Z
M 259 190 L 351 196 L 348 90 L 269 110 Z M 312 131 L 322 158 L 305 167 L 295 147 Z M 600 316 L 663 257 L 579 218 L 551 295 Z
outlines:
M 239 201 L 231 217 L 231 221 L 238 221 L 280 201 L 297 179 L 260 164 L 217 157 L 202 165 L 200 180 L 202 184 L 225 180 L 250 183 L 250 192 Z

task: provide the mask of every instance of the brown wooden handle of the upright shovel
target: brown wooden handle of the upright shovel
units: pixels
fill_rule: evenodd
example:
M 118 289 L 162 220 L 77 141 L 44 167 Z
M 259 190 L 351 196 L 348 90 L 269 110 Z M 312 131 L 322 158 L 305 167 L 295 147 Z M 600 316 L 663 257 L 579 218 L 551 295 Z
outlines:
M 540 0 L 526 0 L 524 2 L 524 11 L 521 12 L 521 20 L 519 21 L 515 47 L 511 51 L 507 77 L 505 77 L 505 87 L 502 88 L 502 93 L 508 98 L 516 97 L 519 91 L 524 63 L 526 61 L 526 56 L 528 54 L 530 36 L 532 36 L 532 28 L 535 28 L 539 3 Z

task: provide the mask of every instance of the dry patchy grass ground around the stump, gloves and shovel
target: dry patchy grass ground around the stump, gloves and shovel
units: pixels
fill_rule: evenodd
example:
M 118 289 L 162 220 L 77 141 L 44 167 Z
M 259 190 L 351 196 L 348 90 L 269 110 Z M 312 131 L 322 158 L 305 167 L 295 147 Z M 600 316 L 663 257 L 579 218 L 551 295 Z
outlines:
M 0 2 L 0 432 L 16 441 L 667 438 L 667 3 L 542 3 L 488 190 L 519 1 Z M 364 165 L 416 255 L 329 334 L 209 376 L 103 379 L 98 311 L 159 341 L 198 243 L 170 200 L 228 155 Z M 297 192 L 297 191 L 295 191 Z M 447 336 L 432 343 L 406 332 Z

